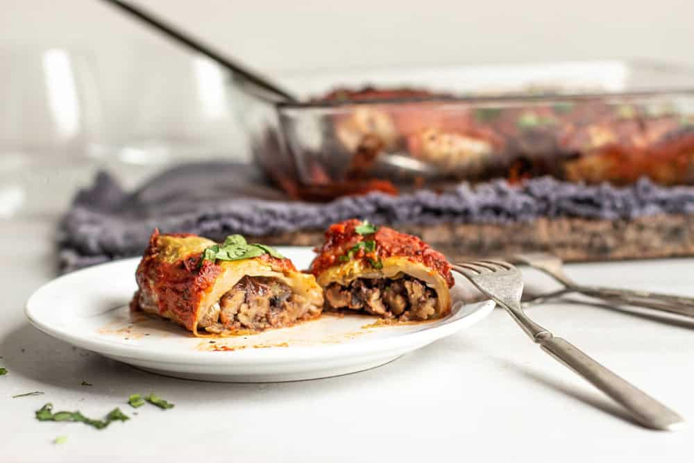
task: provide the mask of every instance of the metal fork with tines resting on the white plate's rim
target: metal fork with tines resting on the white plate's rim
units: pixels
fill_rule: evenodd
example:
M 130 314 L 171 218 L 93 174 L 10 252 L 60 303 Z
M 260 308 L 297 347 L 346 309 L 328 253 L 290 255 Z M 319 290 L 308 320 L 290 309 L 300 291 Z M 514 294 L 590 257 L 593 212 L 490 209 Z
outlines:
M 504 308 L 543 351 L 625 407 L 638 423 L 657 430 L 675 430 L 684 425 L 682 416 L 527 317 L 521 308 L 523 277 L 516 267 L 507 262 L 478 260 L 454 264 L 452 269 Z

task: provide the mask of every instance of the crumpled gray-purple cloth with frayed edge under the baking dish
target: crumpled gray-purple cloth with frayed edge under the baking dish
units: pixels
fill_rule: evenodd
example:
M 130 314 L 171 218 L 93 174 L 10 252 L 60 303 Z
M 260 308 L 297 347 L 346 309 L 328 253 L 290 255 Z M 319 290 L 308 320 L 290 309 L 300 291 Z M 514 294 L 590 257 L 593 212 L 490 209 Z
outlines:
M 61 271 L 139 255 L 155 227 L 223 239 L 232 233 L 271 235 L 316 230 L 359 217 L 375 224 L 506 223 L 537 217 L 632 218 L 694 213 L 694 187 L 586 186 L 550 177 L 520 186 L 505 180 L 443 194 L 372 193 L 330 203 L 289 201 L 251 165 L 205 163 L 164 172 L 128 193 L 100 172 L 78 192 L 59 228 Z

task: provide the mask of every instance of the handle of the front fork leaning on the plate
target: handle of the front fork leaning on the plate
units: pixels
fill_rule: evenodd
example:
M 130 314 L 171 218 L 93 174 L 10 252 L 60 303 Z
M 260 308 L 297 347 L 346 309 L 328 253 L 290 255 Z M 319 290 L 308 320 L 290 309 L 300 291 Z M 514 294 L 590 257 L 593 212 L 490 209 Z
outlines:
M 561 337 L 546 332 L 537 337 L 543 351 L 555 357 L 591 384 L 625 407 L 643 426 L 657 430 L 674 430 L 684 425 L 684 419 L 626 380 L 617 376 L 589 355 Z

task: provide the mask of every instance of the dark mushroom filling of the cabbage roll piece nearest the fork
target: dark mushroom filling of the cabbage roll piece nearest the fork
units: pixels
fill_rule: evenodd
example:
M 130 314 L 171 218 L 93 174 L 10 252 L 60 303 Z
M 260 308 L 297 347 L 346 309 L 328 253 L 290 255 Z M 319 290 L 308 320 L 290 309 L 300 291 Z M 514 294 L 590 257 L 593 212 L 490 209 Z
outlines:
M 326 310 L 360 310 L 387 319 L 431 319 L 437 316 L 438 305 L 434 289 L 411 276 L 358 278 L 348 286 L 331 283 L 325 289 Z

